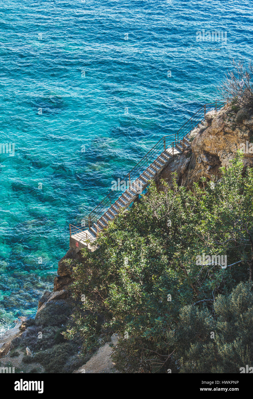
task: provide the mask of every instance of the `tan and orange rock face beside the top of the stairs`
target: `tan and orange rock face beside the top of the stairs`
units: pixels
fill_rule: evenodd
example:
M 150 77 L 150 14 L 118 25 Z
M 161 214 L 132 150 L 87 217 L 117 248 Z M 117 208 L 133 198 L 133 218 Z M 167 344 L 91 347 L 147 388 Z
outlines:
M 211 111 L 206 114 L 205 121 L 191 132 L 190 138 L 192 152 L 185 151 L 164 168 L 157 181 L 158 188 L 161 179 L 171 184 L 172 172 L 175 171 L 178 183 L 186 188 L 191 188 L 202 176 L 210 180 L 219 177 L 219 168 L 227 167 L 243 144 L 246 148 L 246 142 L 253 142 L 253 110 L 235 112 L 228 108 Z M 253 154 L 249 151 L 244 154 L 243 164 L 245 167 L 253 166 Z

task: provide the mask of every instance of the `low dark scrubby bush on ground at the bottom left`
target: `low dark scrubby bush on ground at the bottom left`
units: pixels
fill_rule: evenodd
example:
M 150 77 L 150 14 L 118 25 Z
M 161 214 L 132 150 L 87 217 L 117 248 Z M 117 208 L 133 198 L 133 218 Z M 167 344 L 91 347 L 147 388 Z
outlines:
M 12 342 L 12 356 L 22 353 L 24 365 L 38 362 L 46 373 L 71 373 L 81 366 L 83 359 L 78 356 L 80 343 L 65 340 L 62 335 L 65 330 L 62 324 L 66 324 L 72 308 L 70 304 L 49 304 L 35 318 L 26 320 L 22 336 Z M 27 347 L 33 356 L 26 355 Z M 33 372 L 38 372 L 38 369 Z

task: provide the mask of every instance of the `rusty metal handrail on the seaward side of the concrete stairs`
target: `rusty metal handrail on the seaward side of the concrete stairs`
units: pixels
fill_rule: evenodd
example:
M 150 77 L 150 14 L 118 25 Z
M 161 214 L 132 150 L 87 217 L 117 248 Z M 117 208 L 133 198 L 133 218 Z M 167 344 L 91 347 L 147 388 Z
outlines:
M 183 126 L 180 127 L 180 129 L 177 131 L 177 134 L 175 134 L 175 141 L 171 142 L 169 145 L 167 144 L 167 148 L 172 148 L 172 156 L 174 155 L 174 147 L 176 146 L 176 144 L 179 143 L 179 141 L 182 141 L 182 149 L 184 151 L 185 148 L 185 142 L 184 142 L 184 137 L 191 132 L 194 128 L 196 128 L 198 126 L 198 124 L 200 124 L 204 119 L 205 119 L 205 115 L 208 112 L 207 110 L 211 110 L 211 109 L 221 109 L 222 107 L 225 108 L 225 102 L 224 101 L 219 101 L 216 100 L 213 103 L 206 103 L 205 105 L 203 105 L 190 119 L 188 119 Z M 198 119 L 202 117 L 202 119 Z M 198 119 L 198 122 L 197 122 Z M 195 124 L 197 122 L 197 124 Z M 121 182 L 127 182 L 129 180 L 131 180 L 131 175 L 133 176 L 134 173 L 134 177 L 132 177 L 132 181 L 135 181 L 143 172 L 144 170 L 146 170 L 146 165 L 148 167 L 150 167 L 151 164 L 153 164 L 157 158 L 157 154 L 161 154 L 163 151 L 166 150 L 166 139 L 168 142 L 168 138 L 171 139 L 171 136 L 164 136 L 162 137 L 156 144 L 154 144 L 154 146 L 151 148 L 151 150 L 149 150 L 147 152 L 146 155 L 144 155 L 144 157 L 138 162 L 138 164 L 136 164 L 134 166 L 134 168 L 132 168 L 132 170 L 130 170 L 130 172 L 123 178 L 121 179 Z M 163 149 L 163 150 L 162 150 Z M 156 158 L 154 158 L 154 156 L 156 156 Z M 150 164 L 149 164 L 150 162 Z M 156 165 L 155 165 L 156 168 Z M 115 201 L 115 199 L 117 199 L 117 201 Z M 117 205 L 117 209 L 119 210 L 119 206 L 120 209 L 124 209 L 124 205 L 120 205 L 119 204 L 119 192 L 116 191 L 115 194 L 112 192 L 110 194 L 108 194 L 94 209 L 93 211 L 91 211 L 91 213 L 89 214 L 88 220 L 89 220 L 89 228 L 93 225 L 93 223 L 95 223 L 95 221 L 99 221 L 99 218 L 101 217 L 101 214 L 105 213 L 109 207 L 111 207 L 112 205 Z M 125 207 L 127 207 L 128 205 L 126 205 Z M 106 210 L 105 210 L 106 209 Z M 99 217 L 98 217 L 99 216 Z M 72 226 L 72 228 L 71 228 Z M 83 231 L 85 232 L 86 229 L 88 229 L 88 227 L 85 227 L 83 229 L 79 229 L 79 227 L 73 226 L 73 225 L 69 225 L 69 229 L 70 229 L 70 235 L 71 233 L 74 231 L 73 228 L 76 228 L 79 231 Z M 99 226 L 97 224 L 97 233 L 99 232 Z M 87 236 L 87 233 L 86 233 Z M 91 239 L 89 237 L 89 239 Z

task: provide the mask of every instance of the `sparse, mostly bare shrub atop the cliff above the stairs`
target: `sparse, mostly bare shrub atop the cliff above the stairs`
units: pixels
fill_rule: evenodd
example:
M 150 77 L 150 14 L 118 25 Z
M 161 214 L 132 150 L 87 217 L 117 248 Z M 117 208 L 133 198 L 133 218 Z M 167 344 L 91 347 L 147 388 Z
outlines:
M 218 87 L 219 94 L 233 105 L 238 105 L 243 108 L 253 107 L 253 65 L 248 64 L 248 71 L 243 65 L 243 61 L 231 61 L 233 71 L 225 73 L 226 79 Z

